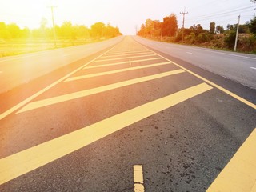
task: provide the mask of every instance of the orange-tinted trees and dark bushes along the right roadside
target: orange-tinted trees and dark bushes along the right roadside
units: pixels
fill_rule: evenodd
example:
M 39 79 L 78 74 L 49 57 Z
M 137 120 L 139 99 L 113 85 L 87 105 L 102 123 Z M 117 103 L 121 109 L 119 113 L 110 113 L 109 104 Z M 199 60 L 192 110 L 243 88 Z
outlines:
M 209 29 L 203 29 L 200 24 L 194 24 L 190 28 L 178 28 L 177 17 L 170 14 L 163 21 L 146 19 L 142 24 L 138 35 L 163 42 L 184 43 L 186 45 L 202 46 L 207 48 L 234 50 L 234 42 L 237 24 L 228 24 L 226 29 L 210 22 Z M 256 54 L 256 17 L 239 25 L 238 27 L 239 52 Z M 182 41 L 183 33 L 183 41 Z

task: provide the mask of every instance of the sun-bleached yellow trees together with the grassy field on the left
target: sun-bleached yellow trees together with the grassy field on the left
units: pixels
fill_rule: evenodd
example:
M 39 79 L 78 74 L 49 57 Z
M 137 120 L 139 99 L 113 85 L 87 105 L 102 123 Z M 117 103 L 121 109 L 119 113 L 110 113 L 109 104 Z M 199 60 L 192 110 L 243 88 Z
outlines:
M 21 29 L 15 23 L 0 22 L 0 57 L 83 45 L 121 35 L 118 27 L 113 27 L 110 23 L 105 25 L 102 22 L 96 22 L 88 28 L 63 22 L 62 26 L 55 26 L 56 38 L 54 38 L 53 28 L 47 27 L 46 24 L 46 19 L 42 18 L 41 26 L 30 30 L 27 27 Z

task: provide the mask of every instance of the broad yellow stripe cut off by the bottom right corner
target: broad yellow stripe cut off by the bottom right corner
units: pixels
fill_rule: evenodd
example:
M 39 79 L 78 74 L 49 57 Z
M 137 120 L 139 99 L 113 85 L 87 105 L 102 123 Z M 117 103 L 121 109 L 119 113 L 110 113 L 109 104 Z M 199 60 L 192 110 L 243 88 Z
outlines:
M 207 190 L 215 191 L 256 191 L 256 128 Z

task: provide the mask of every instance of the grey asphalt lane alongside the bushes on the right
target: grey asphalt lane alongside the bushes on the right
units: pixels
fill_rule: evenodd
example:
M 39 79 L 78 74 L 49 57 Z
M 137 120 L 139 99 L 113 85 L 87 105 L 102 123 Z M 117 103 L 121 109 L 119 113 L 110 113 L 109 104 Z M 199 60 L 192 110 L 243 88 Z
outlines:
M 134 36 L 134 39 L 154 50 L 161 51 L 174 58 L 180 58 L 194 66 L 199 66 L 214 74 L 219 74 L 224 78 L 256 89 L 256 55 L 254 54 L 155 42 L 138 36 Z

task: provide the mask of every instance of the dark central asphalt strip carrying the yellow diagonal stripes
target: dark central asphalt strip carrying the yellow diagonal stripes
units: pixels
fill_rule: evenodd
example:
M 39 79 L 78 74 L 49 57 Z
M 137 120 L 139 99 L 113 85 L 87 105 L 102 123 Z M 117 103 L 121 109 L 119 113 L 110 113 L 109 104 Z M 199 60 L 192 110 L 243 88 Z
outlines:
M 172 58 L 126 37 L 0 94 L 0 191 L 206 191 L 256 93 Z

